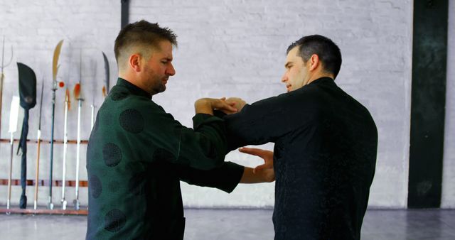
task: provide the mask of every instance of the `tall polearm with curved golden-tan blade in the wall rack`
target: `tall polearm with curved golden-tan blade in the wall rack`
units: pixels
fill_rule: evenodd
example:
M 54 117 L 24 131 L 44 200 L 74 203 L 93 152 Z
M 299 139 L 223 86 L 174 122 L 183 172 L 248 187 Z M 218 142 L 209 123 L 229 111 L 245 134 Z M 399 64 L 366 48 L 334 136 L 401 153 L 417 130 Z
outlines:
M 52 203 L 52 167 L 53 167 L 53 150 L 54 150 L 54 119 L 55 119 L 55 91 L 57 91 L 57 72 L 58 72 L 58 57 L 60 55 L 60 49 L 62 48 L 63 40 L 58 42 L 55 46 L 53 62 L 52 62 L 52 127 L 50 130 L 50 174 L 49 174 L 49 199 L 48 209 L 53 209 L 54 204 Z

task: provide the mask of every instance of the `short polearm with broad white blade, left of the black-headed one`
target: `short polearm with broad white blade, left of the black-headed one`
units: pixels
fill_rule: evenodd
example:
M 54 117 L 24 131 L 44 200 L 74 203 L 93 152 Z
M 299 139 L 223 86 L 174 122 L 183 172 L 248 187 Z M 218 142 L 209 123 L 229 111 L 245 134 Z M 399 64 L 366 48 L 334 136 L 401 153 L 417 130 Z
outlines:
M 8 175 L 8 200 L 6 200 L 6 209 L 11 207 L 11 173 L 13 171 L 13 156 L 14 156 L 14 133 L 17 131 L 17 119 L 19 114 L 19 97 L 13 96 L 11 101 L 11 109 L 9 111 L 9 145 L 11 146 L 11 155 L 9 158 L 9 175 Z

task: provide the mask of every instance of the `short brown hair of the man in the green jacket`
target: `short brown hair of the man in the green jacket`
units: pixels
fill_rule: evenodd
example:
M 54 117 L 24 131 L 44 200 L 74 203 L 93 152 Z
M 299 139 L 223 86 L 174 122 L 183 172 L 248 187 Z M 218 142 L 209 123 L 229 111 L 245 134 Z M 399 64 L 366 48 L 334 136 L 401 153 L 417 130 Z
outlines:
M 145 20 L 129 23 L 115 39 L 114 53 L 117 65 L 122 62 L 119 58 L 129 57 L 125 54 L 128 54 L 131 48 L 139 47 L 141 54 L 147 57 L 151 53 L 149 49 L 159 48 L 159 43 L 163 40 L 177 46 L 177 36 L 169 28 L 161 28 L 158 23 L 149 23 Z

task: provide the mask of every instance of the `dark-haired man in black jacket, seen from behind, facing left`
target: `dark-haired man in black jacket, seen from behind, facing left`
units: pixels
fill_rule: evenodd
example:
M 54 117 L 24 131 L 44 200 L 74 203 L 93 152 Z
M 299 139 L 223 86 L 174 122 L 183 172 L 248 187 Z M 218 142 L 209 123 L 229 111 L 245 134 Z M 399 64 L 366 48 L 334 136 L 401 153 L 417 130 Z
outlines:
M 341 52 L 332 40 L 297 40 L 284 66 L 288 93 L 224 117 L 228 151 L 275 143 L 273 153 L 247 151 L 274 165 L 276 240 L 360 239 L 375 173 L 375 122 L 334 82 Z

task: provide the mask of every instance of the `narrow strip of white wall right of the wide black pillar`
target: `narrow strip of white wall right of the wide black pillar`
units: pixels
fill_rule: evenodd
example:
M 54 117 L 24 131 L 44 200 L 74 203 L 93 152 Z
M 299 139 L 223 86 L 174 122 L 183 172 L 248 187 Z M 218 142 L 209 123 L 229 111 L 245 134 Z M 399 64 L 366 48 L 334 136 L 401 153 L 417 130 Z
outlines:
M 449 0 L 446 124 L 441 207 L 455 208 L 455 1 Z

